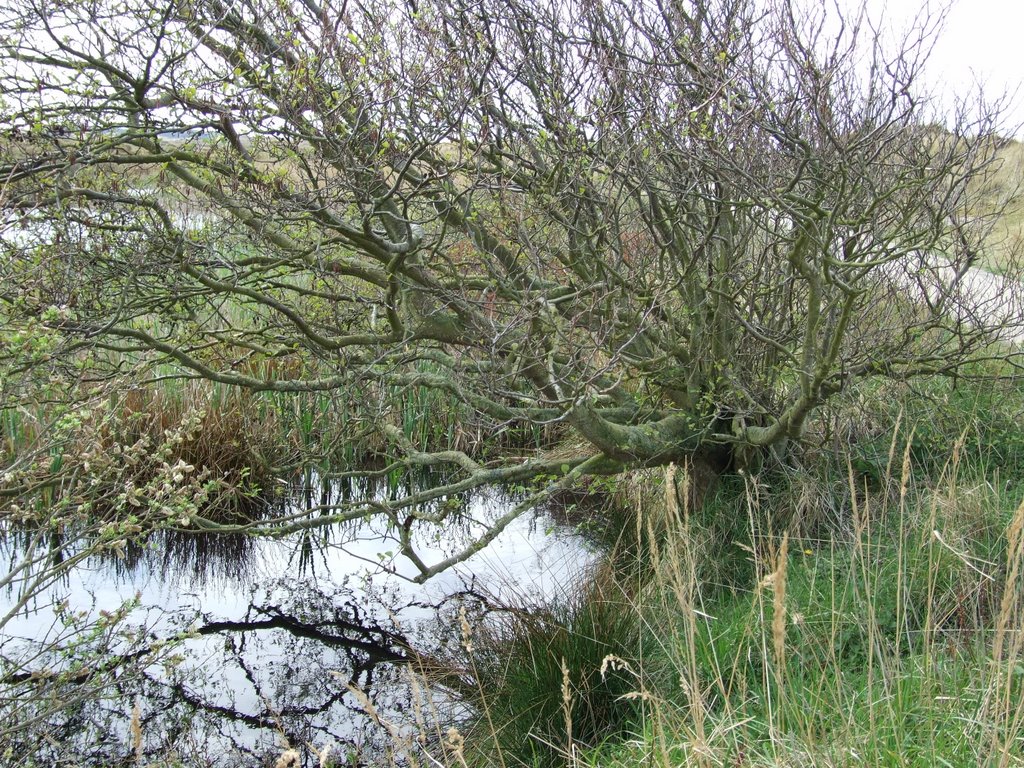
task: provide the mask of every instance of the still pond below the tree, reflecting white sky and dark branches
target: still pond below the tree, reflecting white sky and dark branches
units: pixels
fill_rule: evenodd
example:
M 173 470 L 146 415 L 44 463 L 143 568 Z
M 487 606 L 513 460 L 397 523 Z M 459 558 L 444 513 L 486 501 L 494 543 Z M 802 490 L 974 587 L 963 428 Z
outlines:
M 310 479 L 284 502 L 290 511 L 352 493 Z M 463 522 L 430 541 L 421 537 L 421 553 L 442 559 L 516 497 L 486 488 L 460 501 Z M 4 554 L 16 546 L 8 537 Z M 62 764 L 75 754 L 112 765 L 132 762 L 138 751 L 186 765 L 272 765 L 293 746 L 307 748 L 304 764 L 315 765 L 312 750 L 330 746 L 341 764 L 356 764 L 393 741 L 396 731 L 380 720 L 415 737 L 433 721 L 465 715 L 419 673 L 422 659 L 458 647 L 467 605 L 478 610 L 484 596 L 517 605 L 557 599 L 596 558 L 587 536 L 554 508 L 523 515 L 423 586 L 401 578 L 414 570 L 393 557 L 396 549 L 371 517 L 280 539 L 164 534 L 122 558 L 91 557 L 4 628 L 5 659 L 24 659 L 46 643 L 66 652 L 8 674 L 0 705 L 24 698 L 33 690 L 27 675 L 70 664 L 71 651 L 94 665 L 115 657 L 135 674 L 118 679 L 114 670 L 113 684 L 84 695 L 92 678 L 83 673 L 81 703 L 62 701 L 40 716 L 41 736 L 23 746 L 27 756 Z M 0 609 L 16 599 L 6 590 Z M 128 617 L 108 629 L 103 617 L 126 603 Z

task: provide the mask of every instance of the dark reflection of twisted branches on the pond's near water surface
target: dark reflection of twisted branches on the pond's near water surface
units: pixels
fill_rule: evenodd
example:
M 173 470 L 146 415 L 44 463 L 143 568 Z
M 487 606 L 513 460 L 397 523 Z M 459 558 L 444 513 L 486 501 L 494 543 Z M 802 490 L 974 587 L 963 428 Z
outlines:
M 241 618 L 197 622 L 182 613 L 171 627 L 165 623 L 165 637 L 174 635 L 168 635 L 174 625 L 188 627 L 188 639 L 177 648 L 152 630 L 128 632 L 136 645 L 102 649 L 108 665 L 120 659 L 118 670 L 93 667 L 60 680 L 19 671 L 0 687 L 0 702 L 16 702 L 27 692 L 38 698 L 36 689 L 45 686 L 51 697 L 73 706 L 48 713 L 37 733 L 50 738 L 20 744 L 18 757 L 30 764 L 131 762 L 129 723 L 136 701 L 144 754 L 158 762 L 174 752 L 187 763 L 182 751 L 195 749 L 204 764 L 250 765 L 280 752 L 282 736 L 293 744 L 334 741 L 364 749 L 376 737 L 348 685 L 382 702 L 383 711 L 394 700 L 400 685 L 396 665 L 413 655 L 395 624 L 402 606 L 389 605 L 393 595 L 387 592 L 375 592 L 371 601 L 362 589 L 324 592 L 287 580 L 264 592 Z M 165 664 L 168 650 L 179 660 Z

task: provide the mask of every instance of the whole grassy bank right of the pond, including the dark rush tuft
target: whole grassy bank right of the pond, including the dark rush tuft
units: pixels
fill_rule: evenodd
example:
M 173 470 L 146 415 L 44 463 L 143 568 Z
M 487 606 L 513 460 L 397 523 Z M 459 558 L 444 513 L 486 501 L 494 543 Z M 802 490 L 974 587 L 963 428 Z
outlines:
M 879 400 L 845 466 L 812 452 L 700 509 L 684 468 L 621 481 L 617 559 L 473 623 L 446 674 L 475 716 L 435 758 L 1024 765 L 1020 398 L 959 386 Z

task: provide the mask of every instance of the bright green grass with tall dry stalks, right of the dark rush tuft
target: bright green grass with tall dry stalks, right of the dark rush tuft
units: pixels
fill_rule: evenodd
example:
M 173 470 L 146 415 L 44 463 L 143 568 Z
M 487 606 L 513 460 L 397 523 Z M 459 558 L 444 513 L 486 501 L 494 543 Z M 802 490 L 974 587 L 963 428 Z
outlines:
M 732 589 L 699 581 L 692 521 L 670 527 L 633 606 L 650 715 L 579 762 L 1020 764 L 1024 507 L 992 529 L 997 495 L 979 509 L 968 494 L 965 510 L 946 482 L 903 486 L 895 508 L 866 495 L 825 541 L 760 529 L 748 510 L 754 578 Z M 983 536 L 963 527 L 975 512 Z

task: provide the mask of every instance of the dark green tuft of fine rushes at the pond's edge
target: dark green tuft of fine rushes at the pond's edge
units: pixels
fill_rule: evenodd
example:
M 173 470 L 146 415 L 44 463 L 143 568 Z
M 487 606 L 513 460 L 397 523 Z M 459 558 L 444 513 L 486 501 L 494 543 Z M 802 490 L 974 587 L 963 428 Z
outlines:
M 609 570 L 590 575 L 542 608 L 490 605 L 488 621 L 467 630 L 471 652 L 452 687 L 483 714 L 464 731 L 470 762 L 556 766 L 575 743 L 640 722 L 629 697 L 639 629 L 631 601 Z

